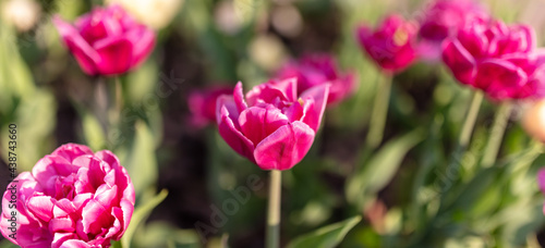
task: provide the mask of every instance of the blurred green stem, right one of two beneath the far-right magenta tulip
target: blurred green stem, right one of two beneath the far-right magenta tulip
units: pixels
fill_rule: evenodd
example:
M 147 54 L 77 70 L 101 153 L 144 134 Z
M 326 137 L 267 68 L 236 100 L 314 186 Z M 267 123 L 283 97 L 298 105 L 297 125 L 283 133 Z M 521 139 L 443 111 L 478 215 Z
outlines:
M 489 168 L 496 162 L 501 140 L 504 139 L 504 134 L 506 132 L 507 122 L 511 115 L 511 110 L 512 104 L 507 101 L 504 102 L 496 112 L 494 124 L 488 136 L 488 141 L 484 150 L 483 161 L 481 163 L 483 168 Z

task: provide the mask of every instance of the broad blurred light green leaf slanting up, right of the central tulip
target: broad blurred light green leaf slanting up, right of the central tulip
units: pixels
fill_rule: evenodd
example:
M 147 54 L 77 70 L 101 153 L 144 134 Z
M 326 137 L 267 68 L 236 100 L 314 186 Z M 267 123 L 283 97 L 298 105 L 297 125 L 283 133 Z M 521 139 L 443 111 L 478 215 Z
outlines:
M 423 138 L 422 129 L 416 129 L 386 144 L 360 172 L 348 181 L 349 202 L 361 206 L 364 202 L 364 196 L 374 195 L 385 187 L 398 171 L 407 152 Z

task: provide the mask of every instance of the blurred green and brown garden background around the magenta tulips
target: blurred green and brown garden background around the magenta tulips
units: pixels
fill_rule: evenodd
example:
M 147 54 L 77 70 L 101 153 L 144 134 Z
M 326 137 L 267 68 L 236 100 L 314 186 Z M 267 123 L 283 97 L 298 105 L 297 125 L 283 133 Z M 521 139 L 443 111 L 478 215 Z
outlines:
M 8 125 L 15 123 L 20 172 L 62 144 L 80 142 L 120 157 L 135 184 L 137 208 L 154 208 L 156 195 L 168 190 L 142 216 L 133 247 L 263 247 L 268 174 L 235 154 L 215 126 L 192 125 L 187 95 L 238 80 L 247 90 L 290 58 L 328 52 L 358 72 L 360 87 L 327 110 L 310 153 L 283 173 L 282 247 L 356 214 L 363 220 L 340 247 L 545 244 L 544 197 L 535 183 L 545 156 L 531 149 L 518 123 L 524 106 L 508 124 L 502 165 L 476 173 L 496 109 L 485 100 L 469 152 L 456 158 L 461 170 L 451 172 L 447 161 L 471 90 L 439 64 L 419 63 L 396 76 L 385 141 L 372 158 L 362 158 L 375 87 L 384 76 L 360 50 L 354 29 L 391 12 L 416 17 L 427 1 L 107 2 L 130 2 L 129 11 L 158 29 L 152 57 L 121 78 L 122 128 L 116 131 L 96 117 L 111 99 L 110 84 L 82 72 L 50 20 L 59 14 L 72 21 L 102 1 L 0 1 L 0 188 L 9 179 Z M 544 1 L 482 3 L 508 23 L 531 24 L 544 45 Z M 449 203 L 439 209 L 440 201 Z M 11 246 L 3 240 L 0 247 Z

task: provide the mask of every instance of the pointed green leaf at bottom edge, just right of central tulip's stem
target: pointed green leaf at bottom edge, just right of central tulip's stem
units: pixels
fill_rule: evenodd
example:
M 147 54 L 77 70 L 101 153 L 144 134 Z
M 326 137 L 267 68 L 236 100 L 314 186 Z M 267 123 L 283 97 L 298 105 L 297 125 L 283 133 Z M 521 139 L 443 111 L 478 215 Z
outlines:
M 294 239 L 289 248 L 327 248 L 327 247 L 337 247 L 344 236 L 347 236 L 348 232 L 352 230 L 360 221 L 362 216 L 353 216 L 346 221 L 335 223 L 325 227 L 322 227 L 314 233 L 303 235 L 296 239 Z

